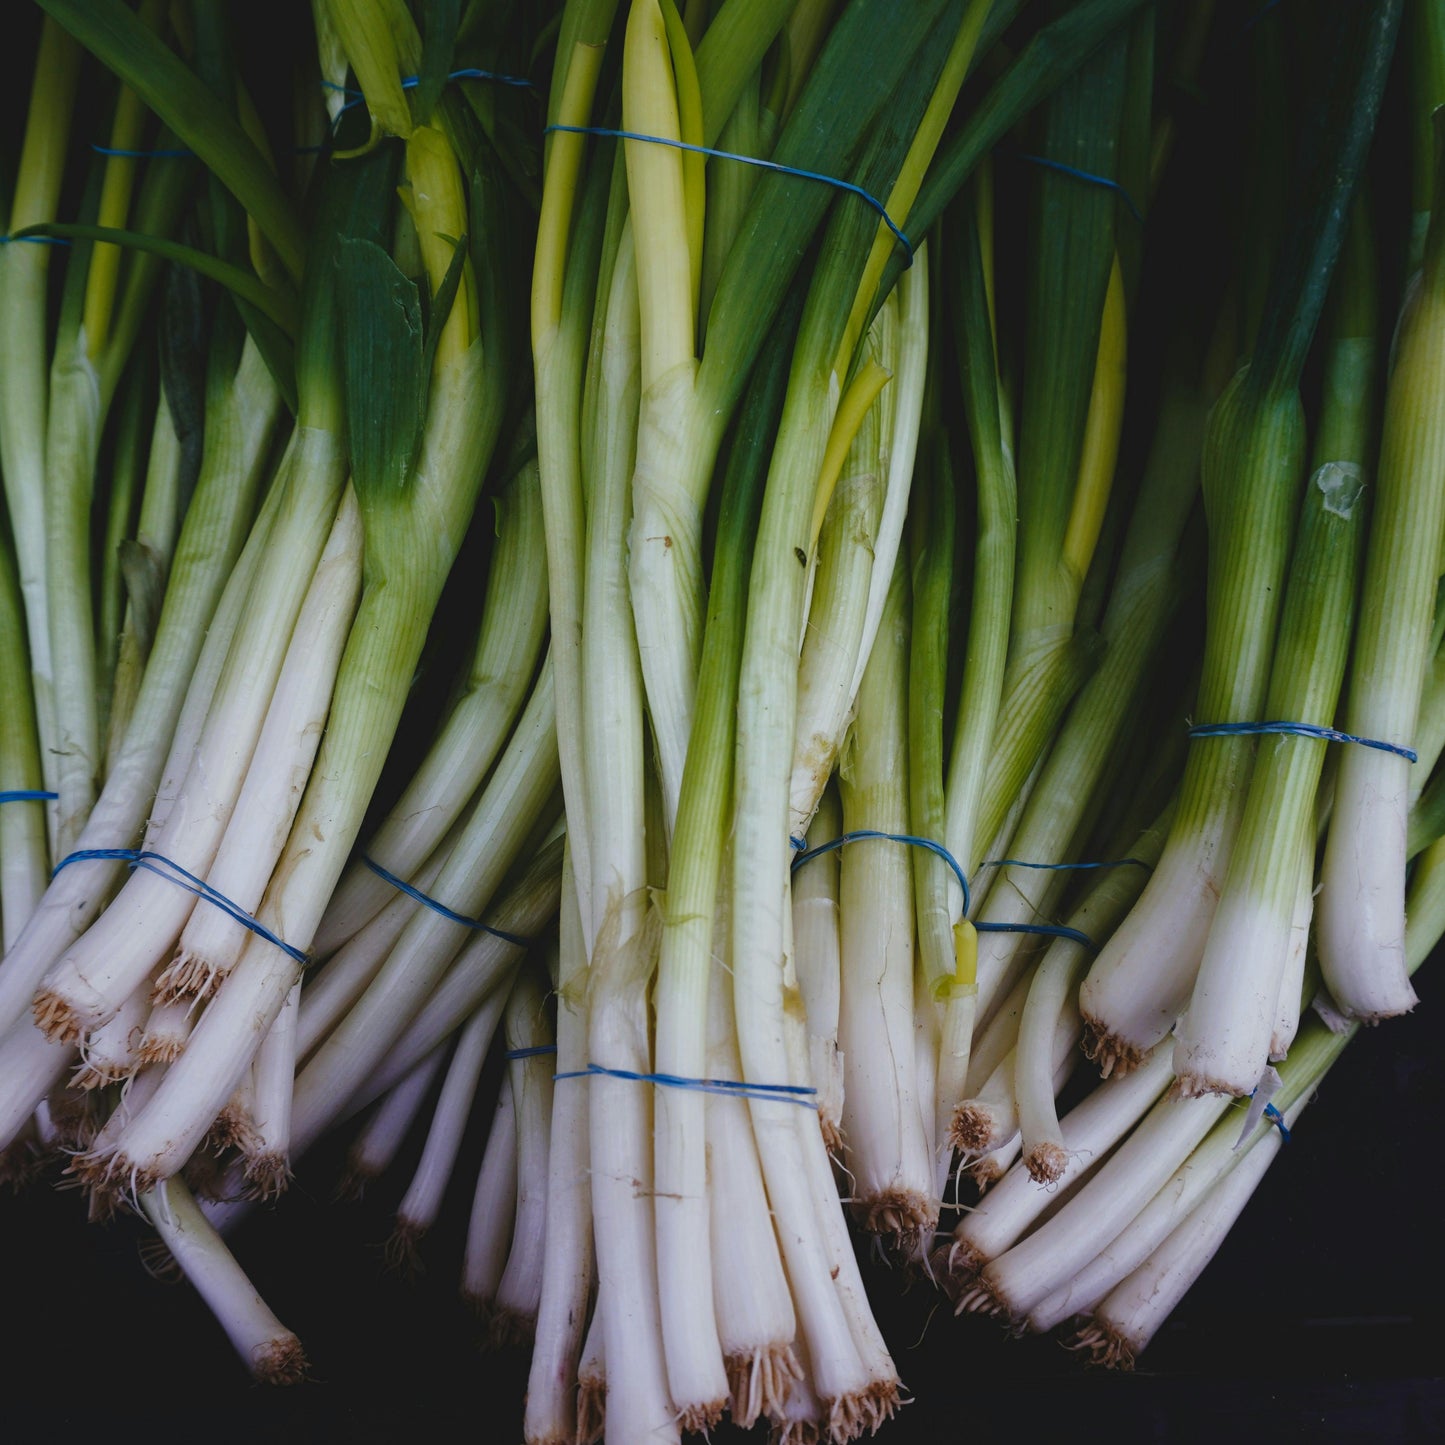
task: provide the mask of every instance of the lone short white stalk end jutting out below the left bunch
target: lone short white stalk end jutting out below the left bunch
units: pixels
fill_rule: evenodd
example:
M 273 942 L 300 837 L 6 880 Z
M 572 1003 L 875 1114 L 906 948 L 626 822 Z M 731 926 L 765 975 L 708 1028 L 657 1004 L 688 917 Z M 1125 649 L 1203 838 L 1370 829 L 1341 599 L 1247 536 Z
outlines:
M 191 1191 L 179 1179 L 171 1179 L 144 1191 L 140 1204 L 251 1374 L 262 1384 L 295 1384 L 305 1379 L 301 1341 L 266 1308 Z

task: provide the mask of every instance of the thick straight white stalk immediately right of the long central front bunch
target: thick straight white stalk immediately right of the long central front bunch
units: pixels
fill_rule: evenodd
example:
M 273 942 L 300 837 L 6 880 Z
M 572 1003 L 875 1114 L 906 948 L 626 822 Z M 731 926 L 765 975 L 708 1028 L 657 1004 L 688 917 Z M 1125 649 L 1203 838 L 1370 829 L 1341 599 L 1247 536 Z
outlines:
M 907 572 L 894 568 L 840 772 L 845 832 L 906 834 Z M 853 1211 L 912 1251 L 938 1214 L 923 1098 L 913 1071 L 913 873 L 906 844 L 842 850 L 842 1134 Z M 932 1113 L 932 1092 L 928 1095 Z

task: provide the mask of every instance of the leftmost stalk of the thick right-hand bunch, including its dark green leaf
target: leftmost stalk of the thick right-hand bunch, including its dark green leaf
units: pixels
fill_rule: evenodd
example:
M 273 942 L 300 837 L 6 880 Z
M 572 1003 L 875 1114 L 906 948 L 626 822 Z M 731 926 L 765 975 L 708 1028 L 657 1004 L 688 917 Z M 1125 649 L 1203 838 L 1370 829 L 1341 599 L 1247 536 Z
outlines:
M 1314 194 L 1290 214 L 1254 357 L 1209 418 L 1202 457 L 1209 572 L 1196 722 L 1263 721 L 1305 462 L 1299 377 L 1344 240 L 1397 20 L 1392 4 L 1341 12 L 1335 20 L 1342 27 L 1332 59 L 1338 74 L 1315 78 L 1331 110 L 1321 146 L 1332 160 L 1318 168 Z M 1432 545 L 1438 559 L 1438 530 Z M 1159 867 L 1081 990 L 1091 1052 L 1105 1072 L 1129 1068 L 1169 1032 L 1188 1001 L 1253 759 L 1250 737 L 1205 737 L 1189 747 L 1179 811 Z M 1344 762 L 1350 764 L 1350 756 Z M 1403 811 L 1399 831 L 1403 853 Z

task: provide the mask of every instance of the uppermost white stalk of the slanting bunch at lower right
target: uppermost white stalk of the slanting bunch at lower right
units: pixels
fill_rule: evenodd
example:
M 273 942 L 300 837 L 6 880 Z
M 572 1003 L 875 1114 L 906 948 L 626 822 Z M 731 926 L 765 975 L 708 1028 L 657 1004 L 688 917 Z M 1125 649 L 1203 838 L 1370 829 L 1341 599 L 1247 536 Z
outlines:
M 951 1276 L 967 1277 L 981 1270 L 1023 1238 L 1045 1211 L 1069 1196 L 1168 1087 L 1173 1078 L 1168 1052 L 1157 1049 L 1139 1069 L 1105 1081 L 1065 1114 L 1066 1159 L 1052 1188 L 1035 1183 L 1026 1169 L 1017 1168 L 988 1191 L 954 1231 L 946 1253 Z

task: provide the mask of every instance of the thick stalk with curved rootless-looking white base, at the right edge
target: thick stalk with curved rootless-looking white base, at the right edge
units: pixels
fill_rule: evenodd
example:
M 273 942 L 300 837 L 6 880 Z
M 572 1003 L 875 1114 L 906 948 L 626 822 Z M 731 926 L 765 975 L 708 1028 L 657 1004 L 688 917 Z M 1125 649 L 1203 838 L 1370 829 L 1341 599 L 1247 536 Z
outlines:
M 1438 121 L 1436 137 L 1441 194 Z M 1433 403 L 1445 374 L 1442 212 L 1436 204 L 1425 269 L 1396 332 L 1344 722 L 1357 737 L 1397 747 L 1415 740 L 1445 522 L 1445 419 Z M 1416 1003 L 1405 967 L 1409 790 L 1410 764 L 1394 753 L 1348 747 L 1340 759 L 1315 929 L 1331 997 L 1367 1022 Z

